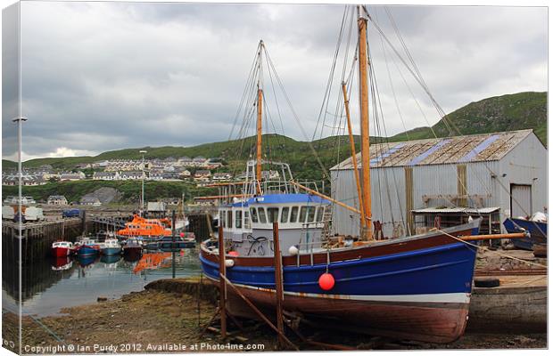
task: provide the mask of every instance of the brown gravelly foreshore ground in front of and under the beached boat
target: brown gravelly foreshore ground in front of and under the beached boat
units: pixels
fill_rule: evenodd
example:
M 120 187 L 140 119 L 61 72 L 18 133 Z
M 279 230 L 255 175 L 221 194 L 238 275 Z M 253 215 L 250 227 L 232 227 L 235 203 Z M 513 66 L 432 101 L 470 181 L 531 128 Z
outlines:
M 61 315 L 39 320 L 23 318 L 24 353 L 96 353 L 113 352 L 210 352 L 232 351 L 227 347 L 256 347 L 257 351 L 276 350 L 276 336 L 267 326 L 248 322 L 247 340 L 230 338 L 219 341 L 210 332 L 202 335 L 215 306 L 206 298 L 200 303 L 192 295 L 148 289 L 123 295 L 120 299 L 92 303 L 62 310 Z M 215 325 L 215 324 L 214 324 Z M 518 349 L 547 347 L 547 335 L 487 335 L 468 333 L 451 344 L 400 342 L 378 337 L 301 327 L 303 336 L 327 344 L 341 344 L 351 350 L 429 350 L 429 349 Z M 4 347 L 17 340 L 17 316 L 3 314 Z M 57 338 L 62 340 L 58 341 Z M 306 344 L 289 333 L 289 338 L 303 351 L 332 350 L 324 345 Z M 68 350 L 69 345 L 74 347 Z M 223 345 L 223 346 L 221 346 Z M 262 345 L 262 346 L 258 346 Z M 186 349 L 183 347 L 186 346 Z M 194 347 L 195 346 L 195 347 Z M 62 349 L 65 347 L 65 349 Z M 169 349 L 168 349 L 169 347 Z M 262 347 L 262 349 L 261 349 Z M 104 350 L 106 349 L 107 350 Z M 14 349 L 12 349 L 14 350 Z M 243 349 L 244 350 L 244 349 Z

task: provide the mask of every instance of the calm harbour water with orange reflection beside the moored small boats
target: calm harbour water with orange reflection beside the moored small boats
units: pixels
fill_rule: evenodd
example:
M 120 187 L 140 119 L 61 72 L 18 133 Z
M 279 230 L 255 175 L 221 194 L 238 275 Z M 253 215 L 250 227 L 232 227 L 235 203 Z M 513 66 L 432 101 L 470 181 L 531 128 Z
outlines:
M 3 263 L 4 264 L 4 263 Z M 5 273 L 2 283 L 3 309 L 17 312 L 17 271 Z M 96 303 L 98 297 L 118 298 L 144 289 L 156 279 L 200 275 L 195 249 L 175 252 L 146 252 L 136 261 L 123 256 L 91 258 L 45 258 L 23 267 L 22 313 L 46 316 L 62 308 Z

